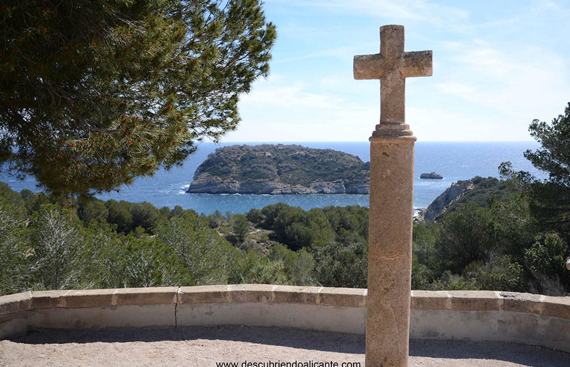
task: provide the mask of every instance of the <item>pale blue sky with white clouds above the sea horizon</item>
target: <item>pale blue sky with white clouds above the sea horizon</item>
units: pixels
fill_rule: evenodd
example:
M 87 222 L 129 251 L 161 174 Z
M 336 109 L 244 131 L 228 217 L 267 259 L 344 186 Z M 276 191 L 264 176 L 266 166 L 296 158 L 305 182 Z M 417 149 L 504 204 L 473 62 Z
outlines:
M 405 51 L 433 50 L 433 76 L 406 79 L 418 141 L 531 141 L 533 119 L 570 101 L 570 1 L 266 0 L 270 76 L 239 103 L 225 142 L 367 141 L 380 81 L 354 80 L 354 55 L 380 51 L 380 26 Z

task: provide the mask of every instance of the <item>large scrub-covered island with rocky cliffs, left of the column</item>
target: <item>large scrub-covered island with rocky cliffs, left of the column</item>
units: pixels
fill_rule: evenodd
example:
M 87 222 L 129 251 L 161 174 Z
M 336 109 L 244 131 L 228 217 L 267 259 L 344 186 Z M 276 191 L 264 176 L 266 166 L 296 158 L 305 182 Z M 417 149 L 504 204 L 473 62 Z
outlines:
M 370 163 L 332 149 L 262 144 L 221 147 L 194 173 L 189 193 L 368 194 Z

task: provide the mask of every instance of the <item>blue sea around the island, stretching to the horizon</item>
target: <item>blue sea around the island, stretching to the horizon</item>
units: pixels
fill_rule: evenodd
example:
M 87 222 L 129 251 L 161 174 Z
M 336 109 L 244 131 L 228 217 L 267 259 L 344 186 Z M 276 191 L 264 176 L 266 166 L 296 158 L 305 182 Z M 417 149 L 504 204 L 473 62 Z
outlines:
M 184 209 L 194 209 L 198 213 L 210 214 L 216 210 L 222 213 L 245 213 L 251 208 L 263 208 L 269 204 L 287 203 L 303 209 L 336 205 L 361 205 L 368 207 L 368 195 L 314 194 L 314 195 L 241 195 L 187 193 L 196 168 L 215 149 L 229 145 L 258 145 L 262 142 L 226 142 L 215 144 L 201 143 L 198 151 L 186 159 L 182 167 L 170 171 L 158 171 L 152 178 L 139 178 L 131 186 L 121 187 L 119 192 L 97 195 L 100 199 L 127 200 L 135 203 L 148 201 L 157 208 L 174 208 L 180 205 Z M 276 144 L 275 142 L 269 144 Z M 357 155 L 364 162 L 370 160 L 370 143 L 365 142 L 283 142 L 298 144 L 310 148 L 333 149 Z M 535 150 L 540 145 L 536 142 L 416 142 L 414 162 L 414 208 L 425 208 L 451 183 L 467 180 L 474 176 L 499 177 L 498 167 L 501 162 L 510 161 L 515 170 L 529 171 L 539 178 L 543 172 L 536 170 L 523 152 Z M 442 180 L 420 179 L 420 174 L 437 172 Z M 0 174 L 0 181 L 6 182 L 15 191 L 36 187 L 33 177 L 17 180 L 6 174 Z

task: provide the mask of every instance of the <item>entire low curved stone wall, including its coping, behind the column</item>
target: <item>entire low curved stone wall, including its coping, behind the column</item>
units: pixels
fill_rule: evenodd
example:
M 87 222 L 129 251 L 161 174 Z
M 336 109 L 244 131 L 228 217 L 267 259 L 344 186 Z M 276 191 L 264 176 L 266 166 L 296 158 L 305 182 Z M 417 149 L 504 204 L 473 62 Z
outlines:
M 38 291 L 0 297 L 0 339 L 28 330 L 237 324 L 364 333 L 367 290 L 271 284 Z M 570 352 L 570 297 L 412 291 L 413 339 L 494 340 Z

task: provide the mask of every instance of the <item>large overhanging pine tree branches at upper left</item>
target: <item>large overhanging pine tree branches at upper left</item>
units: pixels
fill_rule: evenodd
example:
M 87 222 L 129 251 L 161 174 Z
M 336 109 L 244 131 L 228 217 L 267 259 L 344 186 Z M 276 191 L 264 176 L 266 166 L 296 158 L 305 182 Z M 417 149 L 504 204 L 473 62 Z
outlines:
M 259 0 L 5 0 L 0 163 L 56 195 L 180 165 L 268 73 Z

